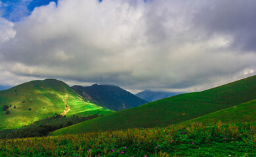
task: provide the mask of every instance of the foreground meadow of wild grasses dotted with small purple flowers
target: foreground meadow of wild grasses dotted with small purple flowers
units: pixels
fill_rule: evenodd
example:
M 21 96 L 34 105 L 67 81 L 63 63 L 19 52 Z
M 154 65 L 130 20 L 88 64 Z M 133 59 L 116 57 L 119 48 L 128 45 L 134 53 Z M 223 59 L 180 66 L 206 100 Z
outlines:
M 255 122 L 0 140 L 0 156 L 256 156 L 255 150 Z

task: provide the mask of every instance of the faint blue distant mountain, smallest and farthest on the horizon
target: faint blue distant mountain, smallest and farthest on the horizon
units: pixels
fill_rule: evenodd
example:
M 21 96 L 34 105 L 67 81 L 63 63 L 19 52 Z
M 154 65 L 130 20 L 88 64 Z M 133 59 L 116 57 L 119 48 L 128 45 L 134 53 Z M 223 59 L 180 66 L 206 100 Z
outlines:
M 135 94 L 135 96 L 140 97 L 141 99 L 144 99 L 145 101 L 152 102 L 159 99 L 163 99 L 170 96 L 175 96 L 180 93 L 174 93 L 174 92 L 153 92 L 151 90 L 143 90 L 142 92 Z

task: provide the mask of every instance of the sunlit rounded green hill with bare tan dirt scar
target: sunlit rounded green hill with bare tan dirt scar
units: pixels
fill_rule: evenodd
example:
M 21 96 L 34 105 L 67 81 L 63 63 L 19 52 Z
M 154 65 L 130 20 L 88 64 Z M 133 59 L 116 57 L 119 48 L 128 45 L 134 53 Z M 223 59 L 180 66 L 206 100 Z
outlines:
M 4 106 L 9 109 L 3 111 Z M 55 79 L 34 80 L 0 91 L 0 109 L 0 130 L 20 128 L 55 113 L 66 116 L 113 113 L 84 101 L 67 84 Z

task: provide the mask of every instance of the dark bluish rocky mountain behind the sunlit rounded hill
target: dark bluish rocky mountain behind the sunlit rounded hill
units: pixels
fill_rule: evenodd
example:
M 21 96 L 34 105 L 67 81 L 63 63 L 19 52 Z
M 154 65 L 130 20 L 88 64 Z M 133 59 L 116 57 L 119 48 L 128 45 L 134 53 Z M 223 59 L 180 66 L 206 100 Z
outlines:
M 118 86 L 93 84 L 87 87 L 72 86 L 72 89 L 84 99 L 113 111 L 138 107 L 147 103 L 147 101 Z

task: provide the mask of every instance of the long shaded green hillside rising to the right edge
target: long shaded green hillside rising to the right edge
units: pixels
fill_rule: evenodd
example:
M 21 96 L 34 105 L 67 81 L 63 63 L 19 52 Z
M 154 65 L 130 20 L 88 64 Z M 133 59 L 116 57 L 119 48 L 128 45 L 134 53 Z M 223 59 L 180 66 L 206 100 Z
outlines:
M 256 99 L 256 76 L 203 92 L 180 94 L 108 114 L 54 131 L 53 135 L 126 128 L 165 127 L 246 103 L 253 99 Z

